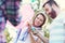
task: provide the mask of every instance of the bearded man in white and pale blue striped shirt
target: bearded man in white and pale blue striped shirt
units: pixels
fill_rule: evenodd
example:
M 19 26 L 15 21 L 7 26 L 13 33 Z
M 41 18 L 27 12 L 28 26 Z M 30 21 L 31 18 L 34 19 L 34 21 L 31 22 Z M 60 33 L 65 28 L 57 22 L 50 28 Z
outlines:
M 47 1 L 43 6 L 46 13 L 53 19 L 50 29 L 49 43 L 64 43 L 65 41 L 65 14 L 54 0 Z

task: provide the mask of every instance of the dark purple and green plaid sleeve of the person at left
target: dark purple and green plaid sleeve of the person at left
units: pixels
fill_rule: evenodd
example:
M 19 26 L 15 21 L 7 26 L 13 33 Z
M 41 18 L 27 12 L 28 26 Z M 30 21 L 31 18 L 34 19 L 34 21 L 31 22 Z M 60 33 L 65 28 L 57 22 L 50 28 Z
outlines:
M 6 17 L 13 26 L 17 26 L 21 22 L 21 17 L 18 16 L 18 9 L 20 6 L 16 4 L 20 2 L 16 1 L 6 1 L 5 3 L 5 12 Z

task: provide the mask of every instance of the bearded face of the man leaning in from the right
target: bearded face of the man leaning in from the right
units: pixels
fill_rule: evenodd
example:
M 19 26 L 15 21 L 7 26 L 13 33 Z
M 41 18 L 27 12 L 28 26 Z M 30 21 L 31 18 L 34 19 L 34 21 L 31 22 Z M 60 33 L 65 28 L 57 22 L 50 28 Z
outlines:
M 56 12 L 53 10 L 53 8 L 50 4 L 44 5 L 46 13 L 51 17 L 55 18 L 56 17 Z

